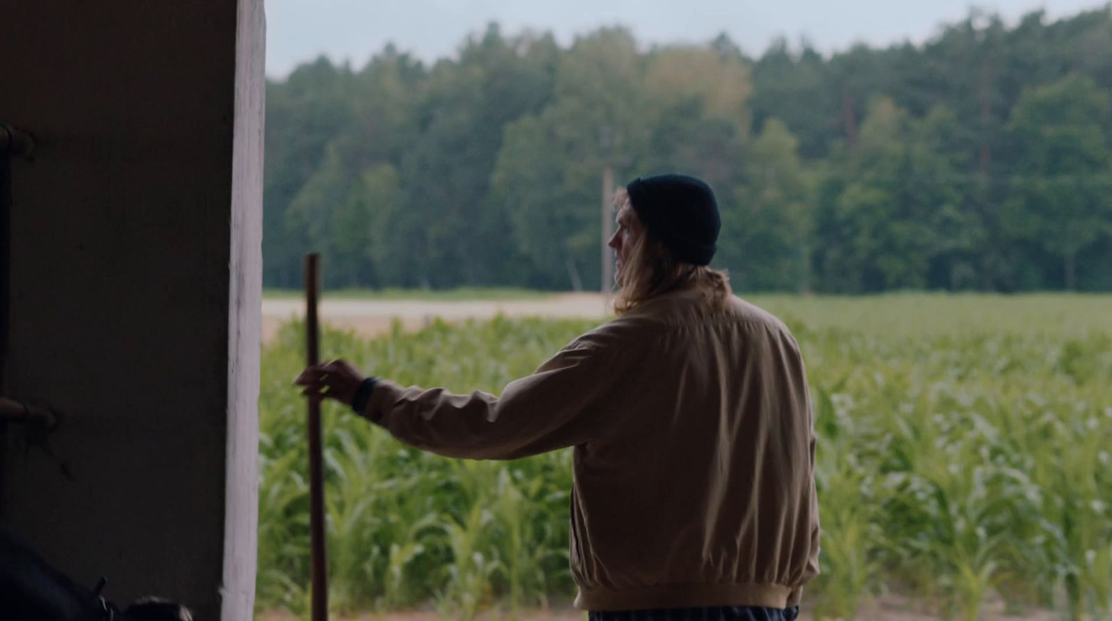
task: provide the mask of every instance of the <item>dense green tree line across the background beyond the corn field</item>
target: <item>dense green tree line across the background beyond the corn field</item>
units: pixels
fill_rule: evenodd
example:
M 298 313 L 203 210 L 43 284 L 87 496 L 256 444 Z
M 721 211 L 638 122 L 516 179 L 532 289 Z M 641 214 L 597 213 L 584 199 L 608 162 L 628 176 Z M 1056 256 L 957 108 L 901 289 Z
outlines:
M 497 23 L 267 85 L 264 282 L 600 286 L 607 171 L 706 179 L 739 290 L 1112 290 L 1112 6 L 759 57 Z

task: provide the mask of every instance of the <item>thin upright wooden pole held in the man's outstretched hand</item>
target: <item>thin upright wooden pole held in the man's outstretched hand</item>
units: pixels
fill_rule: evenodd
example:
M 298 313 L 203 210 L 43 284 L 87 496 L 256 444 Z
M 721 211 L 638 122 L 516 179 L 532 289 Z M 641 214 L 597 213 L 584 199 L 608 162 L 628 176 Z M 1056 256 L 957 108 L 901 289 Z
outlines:
M 320 290 L 320 255 L 305 257 L 306 363 L 320 362 L 317 295 Z M 328 619 L 328 555 L 325 541 L 325 473 L 320 443 L 320 397 L 309 395 L 309 550 L 312 581 L 312 621 Z

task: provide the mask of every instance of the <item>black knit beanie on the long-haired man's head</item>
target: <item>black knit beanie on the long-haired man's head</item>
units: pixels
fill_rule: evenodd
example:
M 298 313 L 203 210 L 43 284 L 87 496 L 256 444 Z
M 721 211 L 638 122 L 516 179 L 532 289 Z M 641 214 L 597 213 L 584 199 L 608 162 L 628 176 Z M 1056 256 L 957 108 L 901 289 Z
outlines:
M 687 175 L 656 175 L 637 177 L 626 191 L 641 220 L 677 259 L 711 263 L 722 228 L 711 186 Z

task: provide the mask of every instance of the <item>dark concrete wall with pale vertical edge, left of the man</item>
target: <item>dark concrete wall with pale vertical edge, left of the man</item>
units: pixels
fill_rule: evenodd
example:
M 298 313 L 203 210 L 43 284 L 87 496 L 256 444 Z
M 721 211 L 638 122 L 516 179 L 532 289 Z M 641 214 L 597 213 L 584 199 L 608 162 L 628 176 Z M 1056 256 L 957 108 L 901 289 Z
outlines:
M 67 414 L 69 481 L 10 428 L 0 519 L 127 603 L 254 597 L 262 0 L 6 2 L 7 393 Z M 221 600 L 221 592 L 227 598 Z

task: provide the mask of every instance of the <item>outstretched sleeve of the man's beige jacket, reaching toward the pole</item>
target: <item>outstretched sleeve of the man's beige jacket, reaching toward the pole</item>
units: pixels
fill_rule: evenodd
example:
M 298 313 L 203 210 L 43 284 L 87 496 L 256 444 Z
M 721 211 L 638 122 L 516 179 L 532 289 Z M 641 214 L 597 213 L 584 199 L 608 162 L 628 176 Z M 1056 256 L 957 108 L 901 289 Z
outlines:
M 629 357 L 616 344 L 580 337 L 502 397 L 475 391 L 403 388 L 380 381 L 364 415 L 399 441 L 439 455 L 515 460 L 583 444 L 603 434 L 618 367 Z

